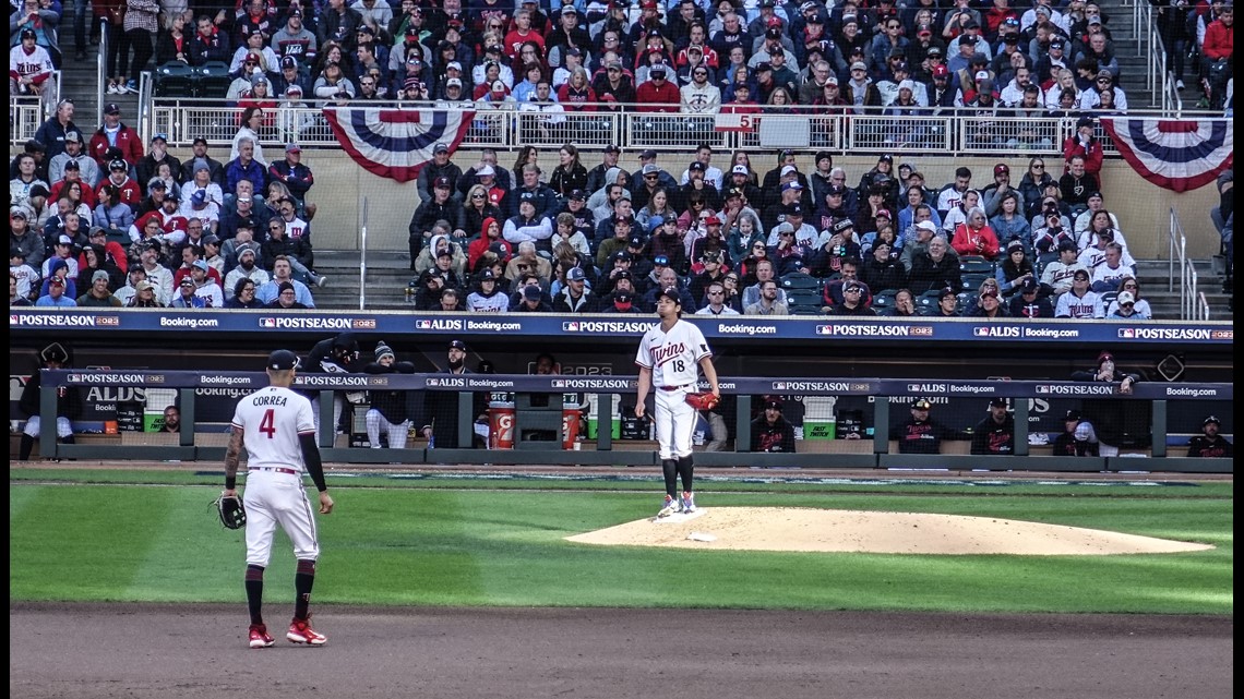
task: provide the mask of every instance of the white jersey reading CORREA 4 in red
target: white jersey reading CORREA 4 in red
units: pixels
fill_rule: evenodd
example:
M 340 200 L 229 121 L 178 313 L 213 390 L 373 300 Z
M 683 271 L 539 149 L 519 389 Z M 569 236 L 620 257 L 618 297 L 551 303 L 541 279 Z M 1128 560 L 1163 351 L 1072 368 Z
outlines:
M 311 400 L 305 396 L 270 386 L 238 402 L 233 425 L 245 430 L 248 468 L 294 468 L 302 470 L 300 434 L 315 434 Z

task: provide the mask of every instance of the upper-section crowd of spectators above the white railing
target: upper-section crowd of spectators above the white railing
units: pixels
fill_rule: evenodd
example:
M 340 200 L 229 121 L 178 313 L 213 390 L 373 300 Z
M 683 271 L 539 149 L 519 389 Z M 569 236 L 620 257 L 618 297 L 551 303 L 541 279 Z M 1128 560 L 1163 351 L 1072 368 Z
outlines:
M 1230 0 L 1153 1 L 1174 56 L 1195 47 L 1204 75 L 1229 76 Z M 80 60 L 83 7 L 73 6 Z M 101 0 L 93 7 L 109 39 L 108 92 L 137 91 L 148 65 L 224 63 L 234 81 L 220 97 L 270 109 L 474 103 L 546 112 L 541 129 L 567 113 L 623 106 L 692 114 L 795 104 L 894 116 L 949 107 L 1127 111 L 1110 17 L 1085 0 Z M 39 90 L 58 66 L 63 14 L 60 0 L 15 0 L 11 90 Z M 1182 60 L 1173 62 L 1182 78 Z

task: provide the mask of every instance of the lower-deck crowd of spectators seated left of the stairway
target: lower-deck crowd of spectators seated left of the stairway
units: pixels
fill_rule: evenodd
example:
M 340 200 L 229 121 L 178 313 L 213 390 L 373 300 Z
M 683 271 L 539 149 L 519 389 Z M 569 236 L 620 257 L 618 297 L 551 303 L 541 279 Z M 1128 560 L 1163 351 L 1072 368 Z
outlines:
M 240 137 L 221 163 L 199 138 L 183 163 L 116 103 L 103 114 L 87 136 L 61 101 L 10 163 L 10 305 L 315 307 L 327 277 L 296 144 L 261 163 Z

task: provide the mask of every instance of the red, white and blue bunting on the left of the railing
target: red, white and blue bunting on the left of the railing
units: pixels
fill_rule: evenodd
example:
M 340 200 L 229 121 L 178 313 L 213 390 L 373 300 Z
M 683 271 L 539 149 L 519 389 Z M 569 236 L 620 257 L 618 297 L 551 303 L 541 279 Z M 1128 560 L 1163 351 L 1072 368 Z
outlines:
M 474 112 L 460 109 L 379 109 L 325 107 L 341 147 L 367 172 L 398 182 L 419 177 L 437 143 L 453 153 Z

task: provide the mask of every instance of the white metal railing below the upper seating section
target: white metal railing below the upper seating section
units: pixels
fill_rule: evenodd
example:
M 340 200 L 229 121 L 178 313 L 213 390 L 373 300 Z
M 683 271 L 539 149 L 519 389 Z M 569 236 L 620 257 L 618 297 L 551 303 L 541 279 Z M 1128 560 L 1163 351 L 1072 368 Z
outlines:
M 515 149 L 520 146 L 557 148 L 575 143 L 591 150 L 608 144 L 626 149 L 683 150 L 708 143 L 719 150 L 801 148 L 845 153 L 873 150 L 921 155 L 972 155 L 1061 153 L 1062 142 L 1075 133 L 1075 118 L 1014 118 L 982 116 L 975 109 L 944 109 L 935 116 L 893 117 L 883 109 L 861 114 L 825 113 L 819 107 L 782 107 L 781 112 L 725 116 L 649 113 L 632 106 L 621 111 L 536 112 L 521 108 L 479 109 L 471 117 L 459 148 Z M 612 104 L 616 107 L 616 104 Z M 341 108 L 435 109 L 433 102 L 351 102 Z M 442 107 L 443 108 L 443 107 Z M 295 142 L 304 148 L 338 148 L 340 143 L 318 106 L 280 106 L 260 129 L 264 146 Z M 189 147 L 195 138 L 209 146 L 233 143 L 241 108 L 219 100 L 156 97 L 149 133 L 168 134 L 173 147 Z M 1171 116 L 1132 112 L 1132 116 Z M 1098 126 L 1107 154 L 1117 154 Z

